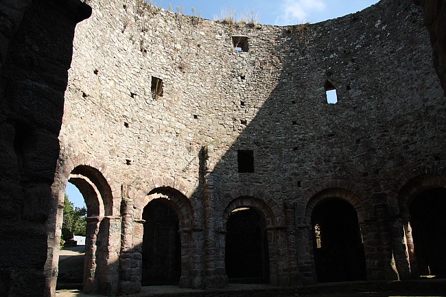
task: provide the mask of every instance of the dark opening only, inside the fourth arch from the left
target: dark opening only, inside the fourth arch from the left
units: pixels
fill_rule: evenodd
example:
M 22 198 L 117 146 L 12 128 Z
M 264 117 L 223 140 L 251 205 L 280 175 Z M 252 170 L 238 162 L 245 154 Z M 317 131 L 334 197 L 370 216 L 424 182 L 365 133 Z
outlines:
M 319 202 L 312 212 L 318 282 L 366 280 L 366 260 L 355 208 L 342 199 Z

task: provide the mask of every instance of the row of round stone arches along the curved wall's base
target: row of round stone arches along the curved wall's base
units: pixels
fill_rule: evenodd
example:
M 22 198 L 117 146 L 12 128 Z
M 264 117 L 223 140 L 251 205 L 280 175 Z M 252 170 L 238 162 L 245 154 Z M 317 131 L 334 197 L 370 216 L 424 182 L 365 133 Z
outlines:
M 116 202 L 99 170 L 75 167 L 69 181 L 80 189 L 88 208 L 85 292 L 128 292 L 126 288 L 134 288 L 128 284 L 134 283 L 137 288 L 211 285 L 203 273 L 211 257 L 206 247 L 210 239 L 199 228 L 207 214 L 200 216 L 185 194 L 159 187 L 139 202 L 122 200 L 121 215 L 113 215 Z M 445 276 L 446 258 L 438 247 L 446 246 L 446 178 L 414 178 L 398 199 L 402 222 L 398 234 L 403 238 L 389 239 L 406 242 L 408 257 L 395 259 L 399 277 Z M 395 225 L 380 225 L 379 216 L 364 219 L 364 200 L 346 189 L 325 189 L 309 199 L 305 214 L 300 211 L 250 196 L 231 200 L 215 217 L 215 225 L 222 228 L 215 229 L 212 239 L 218 256 L 213 260 L 214 277 L 221 276 L 225 284 L 270 285 L 386 278 L 382 265 L 386 255 L 374 252 L 382 244 L 383 233 L 377 230 Z M 395 246 L 390 248 L 390 257 L 401 254 Z M 291 273 L 294 263 L 296 274 Z M 406 263 L 406 270 L 401 263 Z

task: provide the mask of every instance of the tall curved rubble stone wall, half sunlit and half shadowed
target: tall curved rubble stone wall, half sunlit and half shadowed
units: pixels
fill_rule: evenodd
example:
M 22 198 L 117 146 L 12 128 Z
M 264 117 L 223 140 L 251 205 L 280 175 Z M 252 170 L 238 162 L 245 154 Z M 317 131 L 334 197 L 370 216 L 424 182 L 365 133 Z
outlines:
M 71 170 L 88 166 L 113 193 L 97 198 L 109 215 L 124 211 L 121 240 L 109 241 L 119 272 L 106 272 L 106 292 L 139 290 L 142 211 L 158 197 L 172 200 L 184 226 L 186 287 L 226 285 L 226 219 L 240 206 L 266 219 L 271 284 L 316 281 L 310 209 L 331 197 L 355 206 L 367 278 L 410 277 L 399 191 L 419 174 L 441 175 L 445 161 L 444 97 L 420 8 L 383 0 L 339 19 L 275 27 L 141 1 L 88 3 L 54 195 L 62 197 Z M 248 40 L 248 51 L 236 51 L 233 36 Z M 327 104 L 327 88 L 337 104 Z M 238 150 L 252 151 L 253 173 L 237 171 Z

